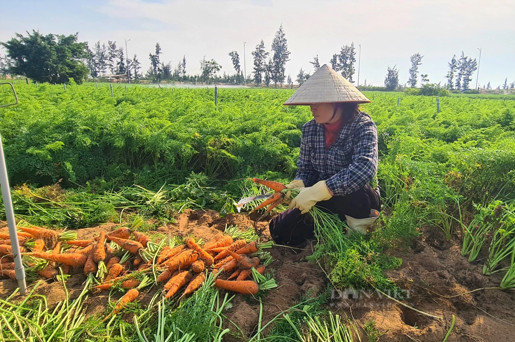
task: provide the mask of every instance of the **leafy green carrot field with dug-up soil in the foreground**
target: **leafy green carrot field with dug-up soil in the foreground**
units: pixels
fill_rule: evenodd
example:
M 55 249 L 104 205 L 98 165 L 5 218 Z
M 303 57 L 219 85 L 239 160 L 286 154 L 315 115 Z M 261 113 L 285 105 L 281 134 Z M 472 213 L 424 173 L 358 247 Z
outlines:
M 216 108 L 212 86 L 15 90 L 20 102 L 0 108 L 0 133 L 17 224 L 32 232 L 23 246 L 29 295 L 2 268 L 2 341 L 513 339 L 512 95 L 451 94 L 437 112 L 434 97 L 364 92 L 372 102 L 361 108 L 379 133 L 380 219 L 370 234 L 346 236 L 345 223 L 312 211 L 316 240 L 288 248 L 268 231 L 284 205 L 250 214 L 258 203 L 241 212 L 236 203 L 273 192 L 253 177 L 295 177 L 312 115 L 282 106 L 294 90 L 219 88 Z M 0 105 L 11 100 L 0 88 Z M 217 266 L 232 244 L 233 254 L 247 248 L 245 259 Z M 90 258 L 88 246 L 107 254 L 92 257 L 90 272 L 72 264 Z M 174 248 L 191 252 L 158 262 Z M 0 257 L 10 262 L 7 249 Z M 123 267 L 106 281 L 110 258 Z M 158 281 L 167 270 L 166 280 L 182 277 L 176 292 Z M 223 281 L 247 270 L 242 281 L 255 290 L 228 290 Z M 184 294 L 192 277 L 198 287 Z M 122 285 L 129 280 L 135 292 Z

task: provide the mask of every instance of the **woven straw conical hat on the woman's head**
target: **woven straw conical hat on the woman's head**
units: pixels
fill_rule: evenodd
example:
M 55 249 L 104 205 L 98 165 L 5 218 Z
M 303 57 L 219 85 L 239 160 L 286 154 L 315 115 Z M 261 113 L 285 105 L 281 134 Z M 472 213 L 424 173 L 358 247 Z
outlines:
M 283 105 L 299 106 L 318 103 L 371 102 L 346 78 L 324 64 L 310 76 Z

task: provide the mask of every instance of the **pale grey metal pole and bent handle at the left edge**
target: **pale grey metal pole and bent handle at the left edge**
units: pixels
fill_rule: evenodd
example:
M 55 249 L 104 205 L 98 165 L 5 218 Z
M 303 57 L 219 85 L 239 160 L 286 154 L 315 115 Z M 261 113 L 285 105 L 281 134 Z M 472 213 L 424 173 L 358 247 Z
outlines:
M 3 105 L 7 107 L 18 104 L 18 96 L 14 91 L 12 83 L 3 82 L 0 84 L 9 84 L 16 99 L 16 103 Z M 7 218 L 7 226 L 9 227 L 9 237 L 11 240 L 12 258 L 14 259 L 14 272 L 20 294 L 25 296 L 27 293 L 27 284 L 25 283 L 25 268 L 22 263 L 22 255 L 20 253 L 20 242 L 18 241 L 18 233 L 16 232 L 16 223 L 14 221 L 14 211 L 12 209 L 11 190 L 9 189 L 9 179 L 7 178 L 7 167 L 5 165 L 4 147 L 2 146 L 2 136 L 0 135 L 0 187 L 2 187 L 2 198 L 4 199 L 5 216 Z

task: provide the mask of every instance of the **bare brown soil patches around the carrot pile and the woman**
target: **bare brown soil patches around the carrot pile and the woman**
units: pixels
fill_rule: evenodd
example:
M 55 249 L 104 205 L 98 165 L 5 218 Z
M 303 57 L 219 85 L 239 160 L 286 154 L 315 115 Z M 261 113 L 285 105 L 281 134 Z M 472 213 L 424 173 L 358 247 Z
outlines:
M 224 231 L 226 225 L 237 225 L 240 229 L 254 227 L 266 239 L 268 237 L 267 220 L 270 217 L 249 218 L 240 214 L 220 217 L 215 211 L 187 211 L 178 219 L 177 224 L 157 228 L 156 232 L 179 236 L 194 235 L 209 241 Z M 255 220 L 255 221 L 254 221 Z M 180 224 L 179 224 L 180 223 Z M 112 230 L 116 224 L 106 224 L 94 228 L 78 230 L 79 238 L 90 238 L 102 229 Z M 471 264 L 460 255 L 458 241 L 445 241 L 438 228 L 423 228 L 422 238 L 414 241 L 411 247 L 391 251 L 402 258 L 399 269 L 391 270 L 388 275 L 397 282 L 408 297 L 404 303 L 425 313 L 443 317 L 444 322 L 419 314 L 387 298 L 368 293 L 350 292 L 341 298 L 334 293 L 330 303 L 333 311 L 354 320 L 358 327 L 364 322 L 374 320 L 381 335 L 380 341 L 424 341 L 441 342 L 449 330 L 452 315 L 456 323 L 448 341 L 460 342 L 508 342 L 515 340 L 515 293 L 499 289 L 483 289 L 474 293 L 454 296 L 482 287 L 496 287 L 502 274 L 483 276 L 482 264 Z M 278 313 L 298 303 L 301 296 L 311 293 L 316 296 L 327 287 L 327 278 L 316 263 L 307 262 L 305 258 L 312 253 L 312 244 L 291 249 L 274 246 L 270 252 L 273 263 L 269 266 L 274 271 L 274 278 L 279 287 L 271 291 L 263 300 L 263 321 L 267 322 Z M 81 270 L 68 279 L 66 286 L 72 298 L 82 290 L 85 277 Z M 13 280 L 0 280 L 0 298 L 5 298 L 16 287 Z M 42 282 L 38 287 L 53 305 L 64 299 L 64 289 L 59 282 Z M 158 288 L 152 287 L 140 294 L 140 302 L 147 305 Z M 356 295 L 358 298 L 356 299 Z M 113 295 L 112 300 L 121 295 Z M 352 295 L 351 295 L 352 296 Z M 338 298 L 337 298 L 338 297 Z M 108 292 L 91 294 L 86 304 L 87 314 L 102 314 L 107 308 Z M 252 298 L 237 295 L 232 300 L 232 307 L 225 312 L 226 325 L 229 321 L 237 324 L 241 331 L 232 329 L 232 335 L 225 335 L 225 340 L 244 340 L 256 331 L 259 319 L 259 304 Z M 495 318 L 493 316 L 495 316 Z M 130 315 L 129 315 L 130 316 Z M 125 317 L 130 321 L 131 317 Z M 361 339 L 368 337 L 360 329 Z

